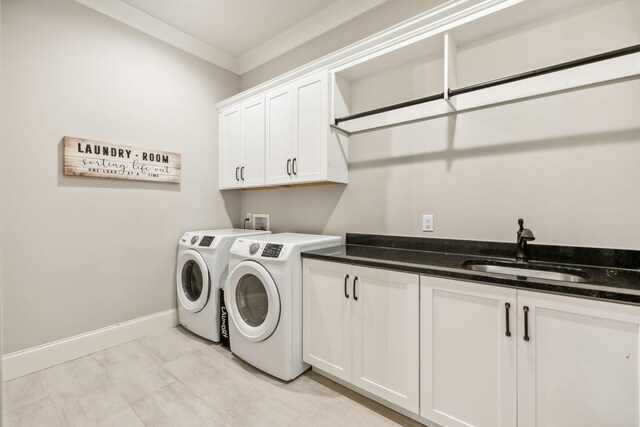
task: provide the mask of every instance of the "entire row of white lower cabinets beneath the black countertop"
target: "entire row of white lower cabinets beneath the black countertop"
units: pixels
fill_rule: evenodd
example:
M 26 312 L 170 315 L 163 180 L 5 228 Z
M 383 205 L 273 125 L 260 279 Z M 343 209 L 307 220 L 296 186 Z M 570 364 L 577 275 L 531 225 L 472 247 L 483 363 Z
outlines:
M 442 427 L 640 427 L 638 306 L 305 259 L 303 334 Z

